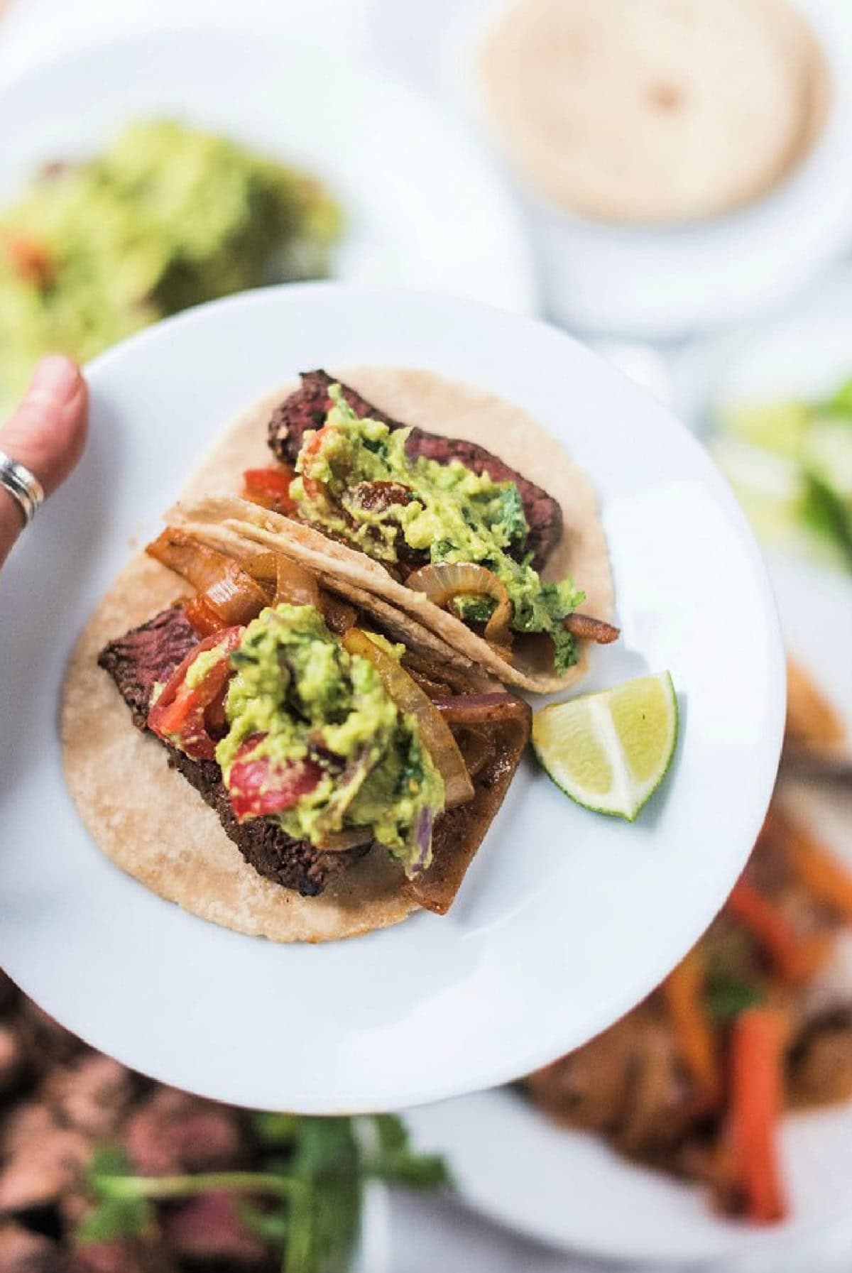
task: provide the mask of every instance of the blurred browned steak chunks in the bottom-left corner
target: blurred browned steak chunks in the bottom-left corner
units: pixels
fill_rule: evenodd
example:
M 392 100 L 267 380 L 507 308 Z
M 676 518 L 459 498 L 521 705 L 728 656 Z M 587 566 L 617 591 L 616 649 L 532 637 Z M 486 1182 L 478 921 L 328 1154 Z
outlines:
M 0 973 L 0 1032 L 24 1054 L 0 1085 L 0 1273 L 273 1273 L 280 1249 L 205 1194 L 172 1203 L 141 1240 L 78 1246 L 92 1208 L 84 1172 L 104 1146 L 145 1176 L 250 1169 L 261 1153 L 242 1110 L 154 1083 L 62 1030 Z M 231 1199 L 225 1199 L 228 1202 Z

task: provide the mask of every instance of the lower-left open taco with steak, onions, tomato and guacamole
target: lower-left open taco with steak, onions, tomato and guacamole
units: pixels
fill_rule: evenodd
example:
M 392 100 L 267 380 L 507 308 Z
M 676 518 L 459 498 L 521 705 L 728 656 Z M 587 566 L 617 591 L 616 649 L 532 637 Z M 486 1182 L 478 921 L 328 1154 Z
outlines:
M 238 421 L 187 496 L 239 485 L 256 424 Z M 336 572 L 218 538 L 168 526 L 74 653 L 65 770 L 96 841 L 185 909 L 275 941 L 443 914 L 521 759 L 527 704 Z

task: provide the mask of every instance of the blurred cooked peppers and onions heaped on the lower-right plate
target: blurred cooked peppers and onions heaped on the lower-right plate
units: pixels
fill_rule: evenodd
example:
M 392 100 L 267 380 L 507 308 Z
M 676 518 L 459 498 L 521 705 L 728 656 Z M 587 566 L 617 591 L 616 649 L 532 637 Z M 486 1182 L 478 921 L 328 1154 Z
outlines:
M 839 722 L 801 667 L 788 676 L 786 750 L 823 756 Z M 782 778 L 722 913 L 660 988 L 526 1081 L 559 1122 L 756 1223 L 790 1211 L 786 1110 L 852 1096 L 852 1009 L 832 966 L 852 923 L 852 876 Z

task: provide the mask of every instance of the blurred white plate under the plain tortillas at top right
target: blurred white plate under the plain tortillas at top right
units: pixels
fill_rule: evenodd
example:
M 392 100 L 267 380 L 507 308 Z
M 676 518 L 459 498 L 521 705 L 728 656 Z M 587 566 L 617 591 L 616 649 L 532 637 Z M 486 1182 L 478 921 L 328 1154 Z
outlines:
M 374 0 L 385 65 L 429 84 L 499 159 L 475 56 L 509 0 Z M 726 216 L 660 228 L 572 216 L 518 190 L 546 312 L 569 327 L 667 340 L 776 304 L 852 243 L 852 15 L 848 0 L 795 0 L 823 45 L 834 101 L 819 144 L 765 199 Z M 413 13 L 411 13 L 413 10 Z

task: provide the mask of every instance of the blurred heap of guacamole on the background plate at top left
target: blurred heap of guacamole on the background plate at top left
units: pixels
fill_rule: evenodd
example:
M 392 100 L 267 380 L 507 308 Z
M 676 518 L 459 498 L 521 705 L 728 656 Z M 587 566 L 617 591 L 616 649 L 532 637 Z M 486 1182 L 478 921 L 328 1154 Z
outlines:
M 0 211 L 0 410 L 47 350 L 85 360 L 187 306 L 327 272 L 315 178 L 176 121 L 51 164 Z

